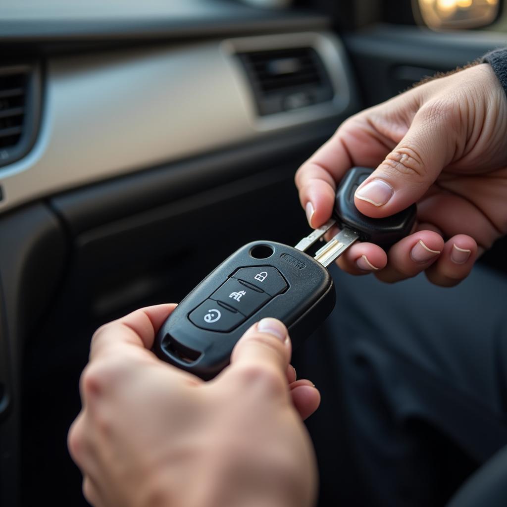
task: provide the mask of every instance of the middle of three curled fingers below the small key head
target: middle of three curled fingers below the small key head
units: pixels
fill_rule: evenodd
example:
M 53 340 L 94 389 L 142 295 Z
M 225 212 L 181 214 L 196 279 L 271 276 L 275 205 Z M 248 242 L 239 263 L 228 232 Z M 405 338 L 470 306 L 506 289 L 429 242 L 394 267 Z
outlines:
M 438 259 L 443 248 L 444 240 L 436 232 L 417 231 L 390 248 L 387 266 L 375 276 L 389 283 L 416 276 Z

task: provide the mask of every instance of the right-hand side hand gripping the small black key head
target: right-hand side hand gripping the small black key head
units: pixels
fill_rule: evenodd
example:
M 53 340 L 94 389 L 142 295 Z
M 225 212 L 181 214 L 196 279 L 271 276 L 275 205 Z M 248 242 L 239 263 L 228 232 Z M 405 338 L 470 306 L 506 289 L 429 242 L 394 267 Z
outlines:
M 380 164 L 357 189 L 355 205 L 382 218 L 417 202 L 415 232 L 387 255 L 355 243 L 339 266 L 386 282 L 425 271 L 433 283 L 455 285 L 507 232 L 506 133 L 507 101 L 489 64 L 461 70 L 343 123 L 298 170 L 301 204 L 319 227 L 343 174 Z

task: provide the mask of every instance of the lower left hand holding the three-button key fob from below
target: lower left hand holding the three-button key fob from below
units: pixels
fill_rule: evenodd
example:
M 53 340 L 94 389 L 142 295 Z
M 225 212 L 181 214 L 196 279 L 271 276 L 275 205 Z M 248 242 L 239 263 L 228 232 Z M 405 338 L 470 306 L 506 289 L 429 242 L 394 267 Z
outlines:
M 275 319 L 253 325 L 210 382 L 150 351 L 175 305 L 137 310 L 93 336 L 68 447 L 95 507 L 307 507 L 316 488 L 302 418 L 319 392 L 295 378 Z

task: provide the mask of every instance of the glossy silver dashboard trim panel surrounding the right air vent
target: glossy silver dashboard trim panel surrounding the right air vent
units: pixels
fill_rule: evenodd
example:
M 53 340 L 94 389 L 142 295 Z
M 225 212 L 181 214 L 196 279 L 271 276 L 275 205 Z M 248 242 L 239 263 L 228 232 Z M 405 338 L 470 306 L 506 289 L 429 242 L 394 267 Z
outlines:
M 259 118 L 235 52 L 310 46 L 334 99 Z M 327 32 L 122 49 L 50 58 L 39 136 L 0 170 L 0 213 L 157 164 L 259 140 L 356 108 L 342 45 Z

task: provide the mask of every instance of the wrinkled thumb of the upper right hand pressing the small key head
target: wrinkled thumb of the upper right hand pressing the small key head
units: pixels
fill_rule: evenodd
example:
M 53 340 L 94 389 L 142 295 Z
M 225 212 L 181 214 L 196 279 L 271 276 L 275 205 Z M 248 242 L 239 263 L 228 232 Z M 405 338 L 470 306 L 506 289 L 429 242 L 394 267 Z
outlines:
M 356 190 L 357 209 L 383 218 L 419 200 L 454 157 L 455 116 L 451 108 L 419 110 L 400 143 Z

